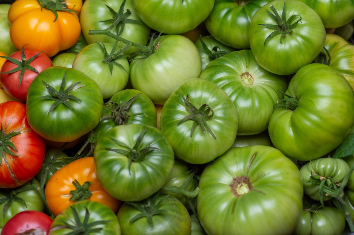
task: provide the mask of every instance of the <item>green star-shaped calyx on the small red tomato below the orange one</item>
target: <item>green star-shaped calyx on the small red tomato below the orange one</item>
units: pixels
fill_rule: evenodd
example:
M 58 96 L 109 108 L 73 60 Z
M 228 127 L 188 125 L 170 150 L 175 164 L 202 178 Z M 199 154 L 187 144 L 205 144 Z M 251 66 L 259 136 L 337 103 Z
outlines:
M 27 45 L 27 44 L 26 44 Z M 20 88 L 21 86 L 21 82 L 22 82 L 22 78 L 23 78 L 23 74 L 26 70 L 30 70 L 30 71 L 34 71 L 36 73 L 39 73 L 34 67 L 30 66 L 29 64 L 37 57 L 39 56 L 42 52 L 32 56 L 31 58 L 29 58 L 28 60 L 26 59 L 26 56 L 24 54 L 24 47 L 26 46 L 24 45 L 21 49 L 21 61 L 19 60 L 16 60 L 10 56 L 0 56 L 1 58 L 4 58 L 6 60 L 9 60 L 11 61 L 13 64 L 17 65 L 16 68 L 13 68 L 12 70 L 10 71 L 7 71 L 7 72 L 1 72 L 1 73 L 15 73 L 17 71 L 21 71 L 20 73 L 20 77 L 19 77 L 19 82 L 18 82 L 18 89 Z

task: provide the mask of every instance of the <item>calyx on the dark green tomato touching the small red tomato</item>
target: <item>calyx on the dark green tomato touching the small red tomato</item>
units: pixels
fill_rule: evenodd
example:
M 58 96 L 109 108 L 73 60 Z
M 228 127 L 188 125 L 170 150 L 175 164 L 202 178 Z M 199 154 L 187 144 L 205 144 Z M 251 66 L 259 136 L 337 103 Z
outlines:
M 46 73 L 47 77 L 49 78 L 48 73 Z M 38 97 L 39 99 L 48 99 L 48 100 L 53 100 L 54 103 L 51 106 L 51 108 L 48 111 L 48 114 L 59 104 L 64 104 L 65 106 L 69 107 L 70 109 L 73 109 L 73 107 L 70 105 L 69 101 L 70 100 L 76 100 L 81 102 L 79 98 L 77 98 L 74 95 L 69 94 L 71 91 L 79 89 L 85 85 L 77 86 L 80 82 L 73 83 L 70 85 L 67 89 L 65 89 L 65 77 L 66 73 L 64 73 L 62 83 L 60 84 L 60 89 L 57 91 L 53 86 L 49 85 L 46 81 L 42 80 L 43 84 L 46 86 L 47 90 L 51 95 L 47 96 L 40 96 Z M 65 89 L 65 90 L 64 90 Z

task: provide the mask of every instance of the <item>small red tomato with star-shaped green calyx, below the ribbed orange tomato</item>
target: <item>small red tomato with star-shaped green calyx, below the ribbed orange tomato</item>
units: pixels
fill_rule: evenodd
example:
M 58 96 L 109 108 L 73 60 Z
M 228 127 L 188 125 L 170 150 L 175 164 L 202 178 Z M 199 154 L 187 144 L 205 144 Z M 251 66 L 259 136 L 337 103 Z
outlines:
M 38 73 L 53 66 L 46 54 L 23 48 L 2 58 L 7 59 L 0 70 L 2 88 L 13 98 L 22 101 L 27 100 L 28 86 Z

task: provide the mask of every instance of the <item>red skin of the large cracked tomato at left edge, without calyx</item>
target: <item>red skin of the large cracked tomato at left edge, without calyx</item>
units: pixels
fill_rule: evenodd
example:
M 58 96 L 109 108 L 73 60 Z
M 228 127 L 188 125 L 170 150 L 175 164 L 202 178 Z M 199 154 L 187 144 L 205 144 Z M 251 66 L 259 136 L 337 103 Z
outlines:
M 2 126 L 2 157 L 0 188 L 15 188 L 32 179 L 41 169 L 45 156 L 45 141 L 28 124 L 27 110 L 23 103 L 7 101 L 0 104 Z M 10 138 L 8 134 L 18 132 Z M 11 141 L 11 145 L 6 144 Z M 12 154 L 5 152 L 8 148 Z M 15 156 L 17 155 L 17 156 Z

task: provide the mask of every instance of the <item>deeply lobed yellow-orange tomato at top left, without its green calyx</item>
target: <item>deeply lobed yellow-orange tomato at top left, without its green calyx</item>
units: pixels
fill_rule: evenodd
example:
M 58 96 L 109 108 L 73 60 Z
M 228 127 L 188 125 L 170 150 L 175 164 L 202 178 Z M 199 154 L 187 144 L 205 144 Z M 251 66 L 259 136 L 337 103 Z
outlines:
M 40 0 L 41 2 L 50 0 Z M 61 0 L 55 0 L 61 2 Z M 17 49 L 44 51 L 49 57 L 72 47 L 81 32 L 78 14 L 82 0 L 66 0 L 67 9 L 76 11 L 53 11 L 43 7 L 37 0 L 17 0 L 8 10 L 11 24 L 10 38 Z

